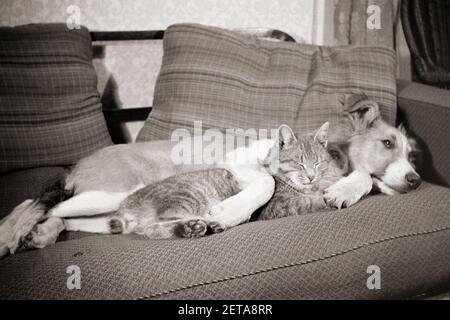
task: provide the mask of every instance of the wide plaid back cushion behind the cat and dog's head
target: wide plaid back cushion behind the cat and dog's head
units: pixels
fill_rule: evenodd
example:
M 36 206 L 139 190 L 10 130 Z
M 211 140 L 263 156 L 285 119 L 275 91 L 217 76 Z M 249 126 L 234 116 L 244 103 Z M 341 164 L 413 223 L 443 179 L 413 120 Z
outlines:
M 395 55 L 373 46 L 272 42 L 195 24 L 169 27 L 154 108 L 138 140 L 168 139 L 193 121 L 209 128 L 309 132 L 335 121 L 342 94 L 365 93 L 396 114 Z

